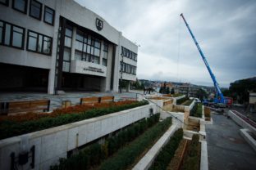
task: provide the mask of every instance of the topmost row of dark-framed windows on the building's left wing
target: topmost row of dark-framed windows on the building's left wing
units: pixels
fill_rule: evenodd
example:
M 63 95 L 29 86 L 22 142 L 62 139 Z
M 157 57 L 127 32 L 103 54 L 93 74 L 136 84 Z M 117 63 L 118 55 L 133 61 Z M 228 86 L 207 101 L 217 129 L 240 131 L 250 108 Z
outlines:
M 9 6 L 9 0 L 0 0 L 1 4 Z M 12 0 L 12 8 L 22 13 L 27 13 L 28 0 Z M 36 0 L 30 0 L 30 16 L 41 20 L 43 11 L 43 4 Z M 49 25 L 54 25 L 55 11 L 47 6 L 44 6 L 43 21 Z

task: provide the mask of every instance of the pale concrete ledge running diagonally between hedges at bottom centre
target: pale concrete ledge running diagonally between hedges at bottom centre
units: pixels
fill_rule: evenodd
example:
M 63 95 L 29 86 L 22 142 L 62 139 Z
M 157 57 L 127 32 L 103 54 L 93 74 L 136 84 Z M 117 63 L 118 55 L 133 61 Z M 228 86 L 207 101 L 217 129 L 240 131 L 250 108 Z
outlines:
M 174 132 L 176 132 L 177 124 L 172 124 L 171 127 L 163 134 L 163 136 L 157 141 L 155 145 L 148 151 L 147 154 L 144 155 L 142 159 L 140 159 L 139 163 L 135 165 L 133 170 L 146 170 L 149 169 L 151 164 L 153 163 L 153 160 L 158 156 L 158 153 L 162 149 L 164 145 L 167 144 L 170 137 L 173 135 Z

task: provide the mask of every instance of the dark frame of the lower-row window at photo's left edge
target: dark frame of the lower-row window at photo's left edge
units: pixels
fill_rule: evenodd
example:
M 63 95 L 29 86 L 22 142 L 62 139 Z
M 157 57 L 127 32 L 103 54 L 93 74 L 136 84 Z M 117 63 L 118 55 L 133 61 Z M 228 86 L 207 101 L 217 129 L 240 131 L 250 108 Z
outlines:
M 0 42 L 0 45 L 2 46 L 6 46 L 6 47 L 13 47 L 13 48 L 17 48 L 17 49 L 21 49 L 21 50 L 24 50 L 24 42 L 25 42 L 25 28 L 21 27 L 21 26 L 18 26 L 18 25 L 13 25 L 9 22 L 6 22 L 4 20 L 0 20 L 3 25 L 2 25 L 2 42 Z M 11 29 L 10 29 L 10 45 L 7 45 L 5 44 L 5 30 L 6 30 L 6 24 L 7 25 L 11 25 Z M 22 34 L 22 42 L 21 42 L 21 47 L 16 47 L 16 46 L 13 46 L 12 45 L 12 38 L 13 38 L 13 27 L 17 27 L 19 29 L 23 29 L 23 34 Z

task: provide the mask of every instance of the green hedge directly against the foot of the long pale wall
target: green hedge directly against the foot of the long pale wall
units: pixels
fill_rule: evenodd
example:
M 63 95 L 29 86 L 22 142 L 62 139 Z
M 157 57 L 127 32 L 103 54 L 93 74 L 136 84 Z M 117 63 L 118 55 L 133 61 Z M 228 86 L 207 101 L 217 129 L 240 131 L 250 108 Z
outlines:
M 94 143 L 81 150 L 78 154 L 73 154 L 68 159 L 60 159 L 57 165 L 51 170 L 88 169 L 101 163 L 108 156 L 114 154 L 123 145 L 133 141 L 146 129 L 158 123 L 160 114 L 153 114 L 149 119 L 143 119 L 138 123 L 118 132 L 116 136 L 109 137 L 103 144 Z

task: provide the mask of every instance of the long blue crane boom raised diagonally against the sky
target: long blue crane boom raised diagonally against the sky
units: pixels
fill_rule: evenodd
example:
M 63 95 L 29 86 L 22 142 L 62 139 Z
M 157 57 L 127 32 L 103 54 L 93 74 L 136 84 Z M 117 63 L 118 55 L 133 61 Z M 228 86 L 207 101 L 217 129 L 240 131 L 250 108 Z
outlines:
M 190 35 L 193 38 L 194 43 L 195 43 L 196 47 L 198 48 L 200 55 L 202 56 L 203 62 L 206 65 L 206 68 L 208 69 L 208 72 L 211 75 L 211 78 L 213 79 L 213 84 L 214 84 L 214 87 L 216 89 L 216 96 L 215 96 L 215 101 L 214 102 L 216 102 L 216 103 L 225 103 L 225 99 L 224 99 L 224 96 L 222 94 L 221 88 L 219 87 L 219 85 L 217 83 L 217 80 L 216 80 L 216 78 L 215 78 L 215 76 L 213 74 L 212 69 L 210 68 L 210 65 L 208 65 L 208 62 L 207 62 L 205 56 L 203 55 L 203 51 L 199 47 L 199 42 L 197 42 L 196 39 L 194 38 L 194 34 L 192 33 L 192 31 L 190 29 L 190 26 L 186 22 L 185 17 L 183 16 L 182 13 L 181 13 L 181 17 L 184 20 L 186 27 L 189 29 Z

